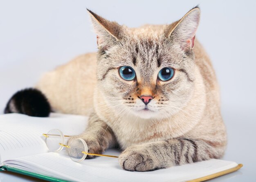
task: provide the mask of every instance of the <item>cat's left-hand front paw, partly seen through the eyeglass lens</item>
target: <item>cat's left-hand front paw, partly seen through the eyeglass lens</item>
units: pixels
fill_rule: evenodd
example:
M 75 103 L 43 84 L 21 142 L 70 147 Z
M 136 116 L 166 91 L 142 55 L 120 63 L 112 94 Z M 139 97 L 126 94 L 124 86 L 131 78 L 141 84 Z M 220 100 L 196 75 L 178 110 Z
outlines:
M 81 145 L 81 143 L 77 142 L 78 137 L 71 137 L 68 142 L 67 145 L 68 146 L 78 146 Z M 97 153 L 97 154 L 102 154 L 103 153 L 103 148 L 101 147 L 101 145 L 99 144 L 97 139 L 92 139 L 92 138 L 81 138 L 83 140 L 85 140 L 87 146 L 88 146 L 88 153 Z M 70 152 L 69 153 L 71 157 L 77 158 L 79 157 L 77 152 Z M 92 155 L 87 155 L 85 159 L 92 159 L 95 158 L 95 156 Z

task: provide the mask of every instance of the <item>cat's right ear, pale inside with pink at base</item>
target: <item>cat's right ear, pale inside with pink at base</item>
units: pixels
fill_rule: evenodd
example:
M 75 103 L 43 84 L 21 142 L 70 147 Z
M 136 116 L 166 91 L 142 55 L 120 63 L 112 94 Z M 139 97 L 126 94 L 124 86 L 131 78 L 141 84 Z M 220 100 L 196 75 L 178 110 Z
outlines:
M 191 9 L 182 19 L 168 27 L 167 36 L 187 51 L 194 47 L 195 32 L 200 21 L 200 9 Z

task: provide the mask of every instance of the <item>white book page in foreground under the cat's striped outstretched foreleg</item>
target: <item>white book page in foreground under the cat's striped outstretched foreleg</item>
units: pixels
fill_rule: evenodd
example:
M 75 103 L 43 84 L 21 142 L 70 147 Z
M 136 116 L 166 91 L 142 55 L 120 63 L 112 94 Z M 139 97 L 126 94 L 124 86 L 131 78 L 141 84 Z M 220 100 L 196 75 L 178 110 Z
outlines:
M 65 153 L 43 153 L 6 161 L 11 167 L 38 172 L 71 181 L 172 181 L 182 182 L 217 173 L 225 169 L 236 167 L 236 162 L 211 159 L 182 166 L 159 169 L 148 172 L 131 172 L 121 169 L 118 158 L 97 157 L 82 163 L 72 161 Z M 110 149 L 109 155 L 119 155 L 119 151 Z

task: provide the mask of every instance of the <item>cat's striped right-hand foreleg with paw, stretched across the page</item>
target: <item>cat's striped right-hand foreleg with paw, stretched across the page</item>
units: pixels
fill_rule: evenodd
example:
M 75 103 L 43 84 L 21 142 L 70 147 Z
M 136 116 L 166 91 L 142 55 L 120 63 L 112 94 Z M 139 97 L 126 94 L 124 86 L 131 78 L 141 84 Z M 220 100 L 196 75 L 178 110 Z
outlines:
M 128 171 L 152 171 L 210 158 L 220 158 L 224 148 L 202 140 L 175 138 L 126 148 L 119 156 L 121 167 Z

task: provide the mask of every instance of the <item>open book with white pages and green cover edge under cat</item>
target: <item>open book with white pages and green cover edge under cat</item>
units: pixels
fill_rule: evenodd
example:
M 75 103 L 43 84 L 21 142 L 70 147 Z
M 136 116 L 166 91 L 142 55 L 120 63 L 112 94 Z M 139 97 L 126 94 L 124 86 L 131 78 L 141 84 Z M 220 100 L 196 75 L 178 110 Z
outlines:
M 121 169 L 118 158 L 97 157 L 81 163 L 72 161 L 65 150 L 48 152 L 45 137 L 50 129 L 65 135 L 81 134 L 88 117 L 52 113 L 49 118 L 22 114 L 0 115 L 0 171 L 12 171 L 36 178 L 60 181 L 203 181 L 236 171 L 242 164 L 211 159 L 148 172 Z M 108 155 L 120 151 L 109 149 Z

